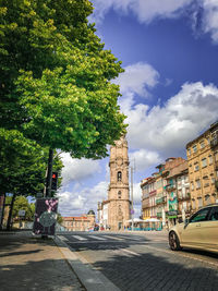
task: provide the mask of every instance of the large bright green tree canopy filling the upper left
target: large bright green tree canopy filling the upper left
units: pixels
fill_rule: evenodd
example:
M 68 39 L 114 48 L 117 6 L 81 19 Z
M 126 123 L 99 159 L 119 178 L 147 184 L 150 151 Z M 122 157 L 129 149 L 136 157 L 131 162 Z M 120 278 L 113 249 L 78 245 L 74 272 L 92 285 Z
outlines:
M 77 158 L 105 157 L 125 132 L 110 83 L 123 70 L 92 11 L 87 0 L 0 1 L 0 124 Z

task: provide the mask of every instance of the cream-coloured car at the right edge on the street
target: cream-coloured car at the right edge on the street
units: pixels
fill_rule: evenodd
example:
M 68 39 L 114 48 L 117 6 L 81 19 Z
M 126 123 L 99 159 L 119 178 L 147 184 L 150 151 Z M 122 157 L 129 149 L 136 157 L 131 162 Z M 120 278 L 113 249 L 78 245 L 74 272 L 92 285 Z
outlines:
M 169 245 L 172 251 L 189 247 L 218 253 L 218 204 L 208 205 L 172 227 Z

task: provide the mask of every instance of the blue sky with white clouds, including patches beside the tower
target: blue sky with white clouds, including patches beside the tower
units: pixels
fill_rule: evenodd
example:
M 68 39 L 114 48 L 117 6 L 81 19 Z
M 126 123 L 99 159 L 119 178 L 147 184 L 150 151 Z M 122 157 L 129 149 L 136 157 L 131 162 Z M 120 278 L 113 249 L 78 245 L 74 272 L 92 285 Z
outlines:
M 121 110 L 128 116 L 130 160 L 135 160 L 135 217 L 140 182 L 218 119 L 218 0 L 93 0 L 97 35 L 122 61 Z M 59 211 L 97 210 L 107 198 L 109 159 L 65 165 Z M 96 211 L 97 213 L 97 211 Z

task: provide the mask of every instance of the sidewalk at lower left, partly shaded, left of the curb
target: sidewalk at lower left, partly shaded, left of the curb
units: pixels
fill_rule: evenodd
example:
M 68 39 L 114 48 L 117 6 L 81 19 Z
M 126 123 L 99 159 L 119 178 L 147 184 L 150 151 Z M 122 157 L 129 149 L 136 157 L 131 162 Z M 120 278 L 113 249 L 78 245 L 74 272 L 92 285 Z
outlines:
M 29 232 L 1 234 L 0 290 L 82 291 L 52 240 L 32 238 Z

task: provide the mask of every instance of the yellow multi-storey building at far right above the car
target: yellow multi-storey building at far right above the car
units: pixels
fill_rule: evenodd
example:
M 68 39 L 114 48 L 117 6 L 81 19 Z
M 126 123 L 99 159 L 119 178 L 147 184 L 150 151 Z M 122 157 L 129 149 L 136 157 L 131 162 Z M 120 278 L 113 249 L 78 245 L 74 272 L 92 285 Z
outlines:
M 218 199 L 218 122 L 186 145 L 193 211 Z

